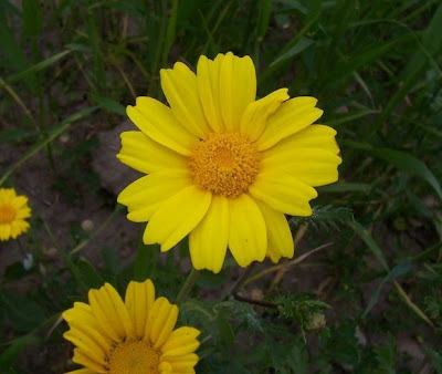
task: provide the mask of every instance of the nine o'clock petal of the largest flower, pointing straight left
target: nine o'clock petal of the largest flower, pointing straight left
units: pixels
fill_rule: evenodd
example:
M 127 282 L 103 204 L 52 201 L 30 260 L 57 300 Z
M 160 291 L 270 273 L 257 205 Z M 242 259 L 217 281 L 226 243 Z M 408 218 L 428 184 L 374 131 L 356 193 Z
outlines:
M 118 159 L 131 168 L 150 174 L 164 169 L 185 169 L 187 158 L 150 139 L 141 132 L 124 132 Z

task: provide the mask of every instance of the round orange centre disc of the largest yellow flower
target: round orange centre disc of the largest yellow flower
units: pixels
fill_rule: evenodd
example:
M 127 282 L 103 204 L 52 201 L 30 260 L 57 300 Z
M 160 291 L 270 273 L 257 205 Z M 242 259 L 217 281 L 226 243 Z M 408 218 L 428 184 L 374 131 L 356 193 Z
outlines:
M 260 153 L 238 133 L 211 133 L 193 148 L 189 167 L 196 185 L 234 198 L 255 180 Z

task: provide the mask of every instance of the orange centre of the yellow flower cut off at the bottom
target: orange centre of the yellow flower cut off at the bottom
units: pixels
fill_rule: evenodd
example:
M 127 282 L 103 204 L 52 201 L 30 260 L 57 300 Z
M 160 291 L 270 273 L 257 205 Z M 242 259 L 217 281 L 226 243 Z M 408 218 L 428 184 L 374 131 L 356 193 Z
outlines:
M 143 341 L 119 343 L 109 355 L 109 374 L 157 374 L 160 351 Z

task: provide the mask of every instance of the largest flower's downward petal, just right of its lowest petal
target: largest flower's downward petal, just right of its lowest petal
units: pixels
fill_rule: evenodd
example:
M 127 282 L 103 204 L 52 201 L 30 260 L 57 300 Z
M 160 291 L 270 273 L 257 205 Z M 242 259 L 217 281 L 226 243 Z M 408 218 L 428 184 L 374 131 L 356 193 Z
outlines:
M 243 194 L 229 199 L 229 248 L 238 264 L 263 261 L 267 247 L 265 221 L 256 202 Z

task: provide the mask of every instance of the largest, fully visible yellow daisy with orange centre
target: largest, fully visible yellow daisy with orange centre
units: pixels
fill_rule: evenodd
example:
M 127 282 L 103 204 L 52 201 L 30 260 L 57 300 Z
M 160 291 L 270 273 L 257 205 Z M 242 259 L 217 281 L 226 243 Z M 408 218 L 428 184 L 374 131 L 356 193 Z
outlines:
M 167 251 L 189 235 L 196 269 L 220 271 L 229 247 L 241 267 L 294 253 L 285 214 L 309 216 L 314 187 L 336 181 L 336 132 L 312 125 L 314 97 L 288 100 L 287 89 L 255 101 L 249 56 L 201 56 L 197 74 L 183 63 L 161 70 L 170 107 L 138 97 L 127 114 L 140 131 L 122 134 L 117 157 L 148 174 L 118 201 L 127 218 L 149 221 L 145 243 Z

